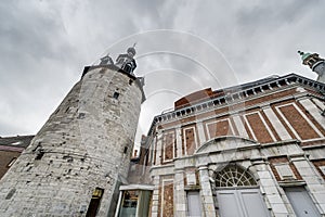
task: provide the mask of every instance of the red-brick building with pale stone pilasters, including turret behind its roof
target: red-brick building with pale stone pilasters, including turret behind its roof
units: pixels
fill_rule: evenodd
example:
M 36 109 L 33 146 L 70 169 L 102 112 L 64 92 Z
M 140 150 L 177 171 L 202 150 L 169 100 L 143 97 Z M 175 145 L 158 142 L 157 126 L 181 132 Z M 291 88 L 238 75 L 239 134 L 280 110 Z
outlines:
M 325 216 L 320 81 L 272 76 L 178 100 L 154 118 L 116 217 Z

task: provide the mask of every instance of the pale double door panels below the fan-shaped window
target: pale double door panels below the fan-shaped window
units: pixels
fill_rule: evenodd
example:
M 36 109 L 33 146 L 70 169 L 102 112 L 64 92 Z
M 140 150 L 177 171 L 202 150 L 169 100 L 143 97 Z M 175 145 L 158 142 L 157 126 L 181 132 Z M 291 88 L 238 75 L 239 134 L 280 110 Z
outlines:
M 270 217 L 259 189 L 218 190 L 221 217 Z

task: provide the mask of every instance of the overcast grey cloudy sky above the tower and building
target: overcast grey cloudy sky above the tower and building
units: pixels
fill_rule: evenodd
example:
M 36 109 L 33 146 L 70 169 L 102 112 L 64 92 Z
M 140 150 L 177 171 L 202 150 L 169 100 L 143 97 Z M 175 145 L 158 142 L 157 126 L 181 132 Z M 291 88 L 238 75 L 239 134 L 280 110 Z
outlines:
M 325 1 L 2 0 L 0 136 L 34 135 L 83 66 L 136 43 L 145 77 L 139 133 L 193 91 L 297 73 L 298 50 L 325 56 Z

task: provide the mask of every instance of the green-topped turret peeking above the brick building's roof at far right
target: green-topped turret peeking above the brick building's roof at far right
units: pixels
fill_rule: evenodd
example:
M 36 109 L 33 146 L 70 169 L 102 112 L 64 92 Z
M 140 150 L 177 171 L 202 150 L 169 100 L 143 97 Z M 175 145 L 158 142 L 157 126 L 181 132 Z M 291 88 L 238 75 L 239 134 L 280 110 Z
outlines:
M 304 53 L 298 51 L 301 55 L 302 64 L 308 65 L 313 72 L 318 74 L 317 81 L 325 82 L 325 62 L 317 53 Z

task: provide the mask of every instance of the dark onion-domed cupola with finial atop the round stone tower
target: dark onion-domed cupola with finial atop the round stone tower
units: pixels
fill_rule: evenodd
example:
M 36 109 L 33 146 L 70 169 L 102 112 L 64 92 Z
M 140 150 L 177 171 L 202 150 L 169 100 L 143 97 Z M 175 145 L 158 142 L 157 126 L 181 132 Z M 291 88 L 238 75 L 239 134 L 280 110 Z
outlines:
M 119 54 L 118 58 L 116 59 L 115 65 L 119 67 L 120 69 L 125 71 L 126 73 L 129 73 L 133 75 L 133 71 L 136 67 L 135 60 L 133 56 L 135 55 L 135 43 L 133 47 L 128 48 L 127 53 L 125 54 Z

